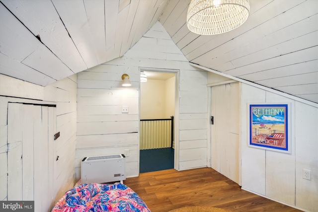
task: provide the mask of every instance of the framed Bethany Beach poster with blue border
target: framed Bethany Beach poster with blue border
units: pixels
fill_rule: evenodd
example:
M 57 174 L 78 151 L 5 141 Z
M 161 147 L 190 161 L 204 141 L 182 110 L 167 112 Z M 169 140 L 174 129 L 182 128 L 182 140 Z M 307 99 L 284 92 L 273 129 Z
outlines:
M 290 103 L 249 104 L 249 146 L 291 153 L 290 135 Z

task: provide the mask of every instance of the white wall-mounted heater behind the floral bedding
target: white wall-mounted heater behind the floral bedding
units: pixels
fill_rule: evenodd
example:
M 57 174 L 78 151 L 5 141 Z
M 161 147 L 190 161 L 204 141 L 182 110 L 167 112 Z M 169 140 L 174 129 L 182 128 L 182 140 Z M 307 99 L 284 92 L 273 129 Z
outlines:
M 81 184 L 123 183 L 126 179 L 125 159 L 123 154 L 84 157 L 81 161 Z

